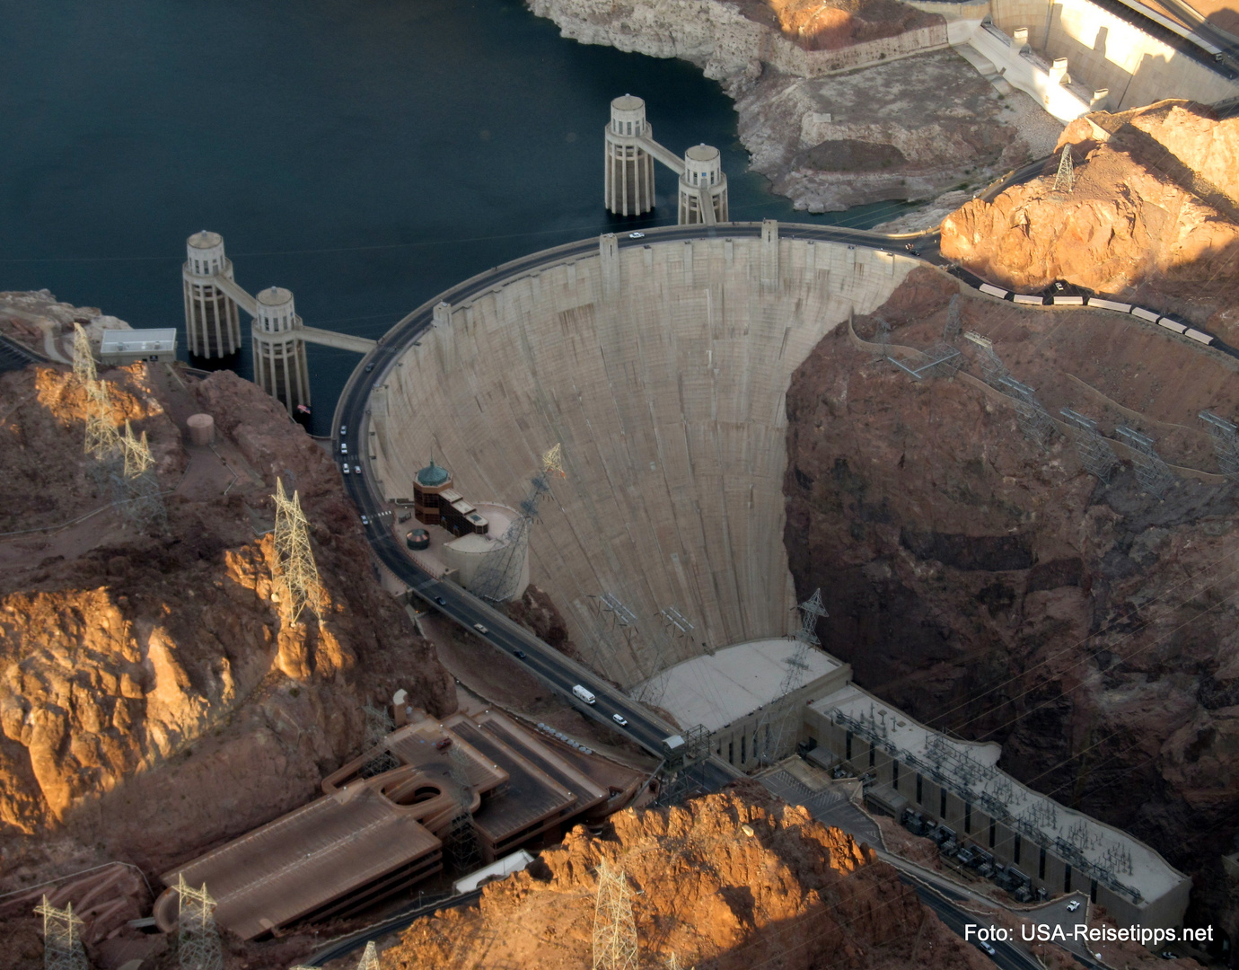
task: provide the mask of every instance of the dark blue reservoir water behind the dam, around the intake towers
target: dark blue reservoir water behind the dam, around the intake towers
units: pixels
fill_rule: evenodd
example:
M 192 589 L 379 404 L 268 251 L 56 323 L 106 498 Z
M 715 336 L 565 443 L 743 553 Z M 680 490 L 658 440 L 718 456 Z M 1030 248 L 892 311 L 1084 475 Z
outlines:
M 0 289 L 182 344 L 198 229 L 250 292 L 286 286 L 309 325 L 378 337 L 461 279 L 613 227 L 602 128 L 629 92 L 673 151 L 722 150 L 732 218 L 893 208 L 793 213 L 746 171 L 715 82 L 561 40 L 519 0 L 0 0 Z M 674 223 L 658 180 L 649 222 Z M 310 349 L 316 429 L 356 362 Z

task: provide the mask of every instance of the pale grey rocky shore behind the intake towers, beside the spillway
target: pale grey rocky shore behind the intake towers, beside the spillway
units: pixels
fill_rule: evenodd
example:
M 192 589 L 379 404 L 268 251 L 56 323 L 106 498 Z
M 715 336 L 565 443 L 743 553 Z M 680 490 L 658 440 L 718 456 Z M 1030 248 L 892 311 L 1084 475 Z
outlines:
M 932 50 L 947 42 L 940 16 L 890 0 L 527 1 L 565 37 L 680 57 L 719 81 L 752 167 L 798 209 L 971 191 L 1062 130 Z

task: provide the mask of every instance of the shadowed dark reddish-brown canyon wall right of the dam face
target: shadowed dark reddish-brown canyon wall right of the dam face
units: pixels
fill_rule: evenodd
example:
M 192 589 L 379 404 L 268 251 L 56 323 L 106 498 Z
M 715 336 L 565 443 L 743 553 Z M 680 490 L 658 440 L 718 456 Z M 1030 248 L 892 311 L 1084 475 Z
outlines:
M 891 342 L 940 339 L 957 291 L 911 274 L 878 311 Z M 960 306 L 1051 414 L 1136 425 L 1167 461 L 1215 470 L 1196 413 L 1239 411 L 1225 362 L 1119 315 Z M 1158 500 L 1125 466 L 1103 487 L 1061 436 L 1027 441 L 1000 395 L 913 382 L 841 331 L 787 400 L 786 544 L 798 592 L 821 587 L 825 648 L 913 716 L 1002 742 L 1007 771 L 1150 842 L 1196 876 L 1193 913 L 1233 930 L 1219 855 L 1239 829 L 1235 484 L 1181 478 Z

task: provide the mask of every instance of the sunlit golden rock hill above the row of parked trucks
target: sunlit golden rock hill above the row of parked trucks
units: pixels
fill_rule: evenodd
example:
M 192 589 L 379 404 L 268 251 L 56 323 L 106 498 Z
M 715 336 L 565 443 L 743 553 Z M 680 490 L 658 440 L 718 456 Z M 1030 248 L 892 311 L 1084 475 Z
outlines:
M 1188 102 L 1099 111 L 1063 131 L 1075 187 L 1047 175 L 965 203 L 942 251 L 1022 292 L 1066 280 L 1208 323 L 1234 337 L 1239 119 Z

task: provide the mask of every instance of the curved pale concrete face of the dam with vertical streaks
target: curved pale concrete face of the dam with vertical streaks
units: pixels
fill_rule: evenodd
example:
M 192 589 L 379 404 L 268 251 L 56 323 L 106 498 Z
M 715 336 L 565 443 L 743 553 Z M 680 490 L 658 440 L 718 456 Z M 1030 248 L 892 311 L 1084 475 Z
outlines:
M 603 237 L 601 254 L 441 307 L 373 395 L 389 498 L 432 456 L 472 500 L 514 505 L 563 443 L 532 581 L 624 686 L 795 627 L 784 394 L 823 336 L 880 306 L 913 264 L 789 232 L 618 253 Z

